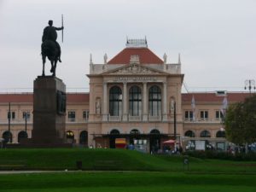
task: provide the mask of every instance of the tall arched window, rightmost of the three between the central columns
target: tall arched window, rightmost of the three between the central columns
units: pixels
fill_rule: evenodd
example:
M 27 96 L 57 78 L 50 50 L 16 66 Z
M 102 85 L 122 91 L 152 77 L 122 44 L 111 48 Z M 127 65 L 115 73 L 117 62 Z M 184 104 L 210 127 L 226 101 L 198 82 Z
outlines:
M 151 116 L 160 116 L 161 106 L 162 106 L 162 97 L 161 90 L 158 86 L 154 85 L 150 87 L 148 94 L 148 113 Z

